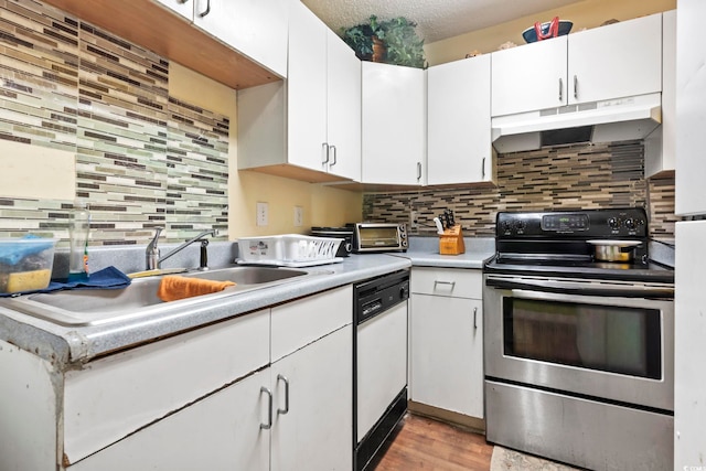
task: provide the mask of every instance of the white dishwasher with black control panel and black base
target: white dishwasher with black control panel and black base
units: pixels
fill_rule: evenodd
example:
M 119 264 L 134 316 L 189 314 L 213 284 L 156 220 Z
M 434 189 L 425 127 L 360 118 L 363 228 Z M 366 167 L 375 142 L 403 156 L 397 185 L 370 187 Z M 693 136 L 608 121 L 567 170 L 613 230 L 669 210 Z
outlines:
M 409 270 L 354 285 L 353 469 L 373 469 L 407 411 Z

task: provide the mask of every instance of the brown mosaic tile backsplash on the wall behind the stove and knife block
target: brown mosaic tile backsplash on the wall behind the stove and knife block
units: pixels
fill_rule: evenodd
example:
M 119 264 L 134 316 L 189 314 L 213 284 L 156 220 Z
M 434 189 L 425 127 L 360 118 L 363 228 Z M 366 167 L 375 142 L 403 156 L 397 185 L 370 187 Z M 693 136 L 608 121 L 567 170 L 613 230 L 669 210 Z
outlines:
M 549 211 L 641 206 L 654 238 L 673 239 L 674 178 L 645 180 L 642 141 L 544 148 L 498 156 L 498 186 L 459 186 L 402 193 L 370 193 L 363 217 L 408 223 L 418 235 L 434 235 L 432 218 L 456 214 L 463 235 L 493 237 L 499 211 Z

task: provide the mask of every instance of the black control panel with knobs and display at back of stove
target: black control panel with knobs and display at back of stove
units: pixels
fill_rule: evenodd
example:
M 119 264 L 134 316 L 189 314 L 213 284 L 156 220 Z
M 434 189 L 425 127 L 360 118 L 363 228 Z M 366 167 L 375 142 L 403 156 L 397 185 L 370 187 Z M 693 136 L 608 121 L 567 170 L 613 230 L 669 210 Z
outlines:
M 496 238 L 646 237 L 642 207 L 616 210 L 500 212 Z

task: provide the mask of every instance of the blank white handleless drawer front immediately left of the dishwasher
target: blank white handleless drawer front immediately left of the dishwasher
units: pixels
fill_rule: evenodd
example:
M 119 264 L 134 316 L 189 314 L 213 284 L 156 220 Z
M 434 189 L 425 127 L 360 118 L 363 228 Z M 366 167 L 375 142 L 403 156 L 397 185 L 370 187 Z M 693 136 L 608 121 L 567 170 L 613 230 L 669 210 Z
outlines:
M 272 308 L 272 363 L 353 323 L 351 285 Z

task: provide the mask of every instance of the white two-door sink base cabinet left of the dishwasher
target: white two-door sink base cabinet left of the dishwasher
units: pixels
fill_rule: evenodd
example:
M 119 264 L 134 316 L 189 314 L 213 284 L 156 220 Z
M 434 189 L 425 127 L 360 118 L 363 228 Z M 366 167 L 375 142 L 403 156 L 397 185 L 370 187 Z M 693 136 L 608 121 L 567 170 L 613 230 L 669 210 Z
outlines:
M 352 296 L 336 288 L 68 372 L 66 469 L 350 470 Z

